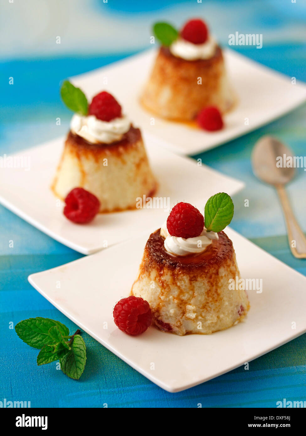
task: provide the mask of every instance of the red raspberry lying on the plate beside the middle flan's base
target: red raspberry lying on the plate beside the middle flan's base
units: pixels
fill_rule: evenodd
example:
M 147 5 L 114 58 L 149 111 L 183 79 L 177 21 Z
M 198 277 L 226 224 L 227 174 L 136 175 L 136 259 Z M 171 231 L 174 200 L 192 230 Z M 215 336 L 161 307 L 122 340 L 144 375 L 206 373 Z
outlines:
M 100 209 L 100 201 L 83 188 L 74 188 L 65 198 L 64 215 L 70 221 L 85 224 L 92 221 Z

